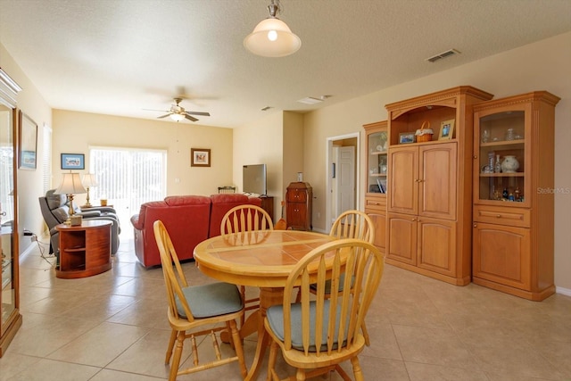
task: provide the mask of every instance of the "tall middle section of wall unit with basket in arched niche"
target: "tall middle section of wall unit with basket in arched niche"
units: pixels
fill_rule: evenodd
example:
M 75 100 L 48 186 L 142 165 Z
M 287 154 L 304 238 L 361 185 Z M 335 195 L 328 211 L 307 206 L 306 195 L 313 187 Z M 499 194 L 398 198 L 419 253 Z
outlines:
M 454 87 L 385 106 L 387 263 L 453 285 L 470 283 L 472 107 L 492 96 Z M 427 125 L 434 132 L 431 140 L 410 138 Z M 445 126 L 447 133 L 441 134 Z

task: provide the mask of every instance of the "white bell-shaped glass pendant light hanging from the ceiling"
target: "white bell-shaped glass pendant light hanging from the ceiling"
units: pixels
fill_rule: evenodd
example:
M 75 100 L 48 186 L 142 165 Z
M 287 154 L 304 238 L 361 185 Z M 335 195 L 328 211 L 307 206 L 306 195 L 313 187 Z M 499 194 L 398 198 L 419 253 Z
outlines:
M 302 46 L 302 40 L 279 20 L 279 0 L 271 0 L 268 5 L 269 18 L 261 21 L 252 33 L 244 38 L 244 46 L 253 54 L 263 57 L 285 57 L 294 54 Z

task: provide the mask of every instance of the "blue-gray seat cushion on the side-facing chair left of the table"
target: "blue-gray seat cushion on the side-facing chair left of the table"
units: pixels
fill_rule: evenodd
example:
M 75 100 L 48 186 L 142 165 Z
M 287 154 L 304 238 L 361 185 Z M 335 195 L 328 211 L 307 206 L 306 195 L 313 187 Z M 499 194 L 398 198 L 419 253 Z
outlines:
M 188 286 L 182 289 L 186 302 L 192 311 L 194 319 L 211 318 L 240 311 L 244 308 L 242 297 L 236 285 L 229 283 L 212 283 L 202 286 Z M 186 318 L 178 295 L 175 295 L 178 315 Z

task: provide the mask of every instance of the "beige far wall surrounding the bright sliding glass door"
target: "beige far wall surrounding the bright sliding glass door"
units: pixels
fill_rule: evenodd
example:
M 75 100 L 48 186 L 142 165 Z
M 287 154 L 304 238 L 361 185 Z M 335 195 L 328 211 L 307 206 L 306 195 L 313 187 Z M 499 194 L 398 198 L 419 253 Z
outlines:
M 167 151 L 167 195 L 212 195 L 232 184 L 232 141 L 230 128 L 54 110 L 52 184 L 61 181 L 61 153 L 85 153 L 87 172 L 90 146 L 144 148 Z M 210 149 L 211 167 L 191 167 L 191 148 Z

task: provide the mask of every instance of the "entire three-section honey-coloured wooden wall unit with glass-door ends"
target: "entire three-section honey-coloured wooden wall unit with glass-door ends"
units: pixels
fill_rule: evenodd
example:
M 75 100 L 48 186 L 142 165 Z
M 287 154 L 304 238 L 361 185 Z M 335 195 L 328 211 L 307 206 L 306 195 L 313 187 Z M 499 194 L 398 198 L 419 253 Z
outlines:
M 363 126 L 365 211 L 386 263 L 541 301 L 555 292 L 559 97 L 492 97 L 462 86 L 386 104 L 388 120 Z

